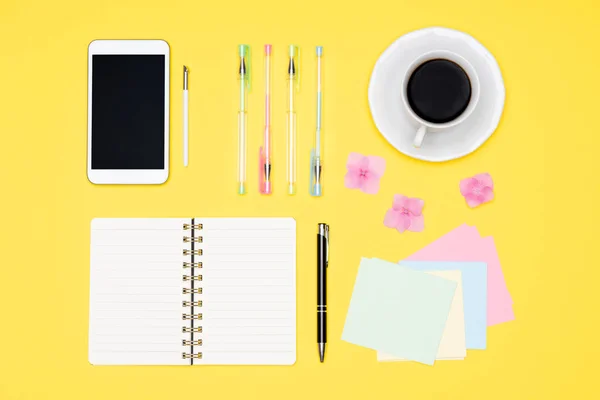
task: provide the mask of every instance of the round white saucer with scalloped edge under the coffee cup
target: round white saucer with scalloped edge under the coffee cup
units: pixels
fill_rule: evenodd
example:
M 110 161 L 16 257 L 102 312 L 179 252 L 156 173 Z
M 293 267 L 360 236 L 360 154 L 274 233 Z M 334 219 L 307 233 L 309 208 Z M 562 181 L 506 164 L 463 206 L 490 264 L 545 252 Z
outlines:
M 481 94 L 473 113 L 459 125 L 428 132 L 413 146 L 419 128 L 402 104 L 402 78 L 409 65 L 432 50 L 453 51 L 469 61 L 479 76 Z M 466 33 L 427 28 L 396 40 L 377 60 L 369 83 L 369 107 L 377 129 L 398 151 L 426 161 L 447 161 L 477 150 L 496 130 L 504 109 L 504 81 L 494 56 Z

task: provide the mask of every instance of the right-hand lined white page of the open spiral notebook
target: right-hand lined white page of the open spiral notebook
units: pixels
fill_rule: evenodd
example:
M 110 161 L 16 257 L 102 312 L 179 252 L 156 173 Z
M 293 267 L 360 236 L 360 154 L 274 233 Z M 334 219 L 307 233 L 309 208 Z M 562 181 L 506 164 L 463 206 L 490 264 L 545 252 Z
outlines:
M 296 361 L 296 221 L 196 218 L 203 228 L 202 359 L 194 364 Z M 196 272 L 198 275 L 198 272 Z

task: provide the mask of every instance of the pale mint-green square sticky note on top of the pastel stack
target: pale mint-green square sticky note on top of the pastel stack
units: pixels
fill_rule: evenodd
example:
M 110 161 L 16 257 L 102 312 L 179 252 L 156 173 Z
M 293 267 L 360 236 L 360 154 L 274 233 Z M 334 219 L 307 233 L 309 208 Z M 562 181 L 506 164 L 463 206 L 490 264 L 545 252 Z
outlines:
M 456 282 L 363 258 L 342 340 L 433 365 Z

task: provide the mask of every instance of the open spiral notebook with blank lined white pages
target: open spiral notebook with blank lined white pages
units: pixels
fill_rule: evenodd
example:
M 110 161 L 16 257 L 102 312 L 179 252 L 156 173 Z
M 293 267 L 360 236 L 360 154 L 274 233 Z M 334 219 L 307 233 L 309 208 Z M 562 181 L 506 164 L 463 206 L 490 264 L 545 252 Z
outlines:
M 294 219 L 91 225 L 91 364 L 296 361 Z

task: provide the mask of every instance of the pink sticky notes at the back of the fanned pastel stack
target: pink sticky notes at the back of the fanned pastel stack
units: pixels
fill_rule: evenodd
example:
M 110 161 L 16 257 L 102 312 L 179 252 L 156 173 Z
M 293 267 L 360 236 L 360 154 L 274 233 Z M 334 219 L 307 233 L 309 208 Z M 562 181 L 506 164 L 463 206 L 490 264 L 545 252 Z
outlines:
M 461 225 L 417 251 L 413 261 L 481 261 L 488 266 L 487 325 L 515 319 L 494 238 L 481 238 L 474 226 Z

